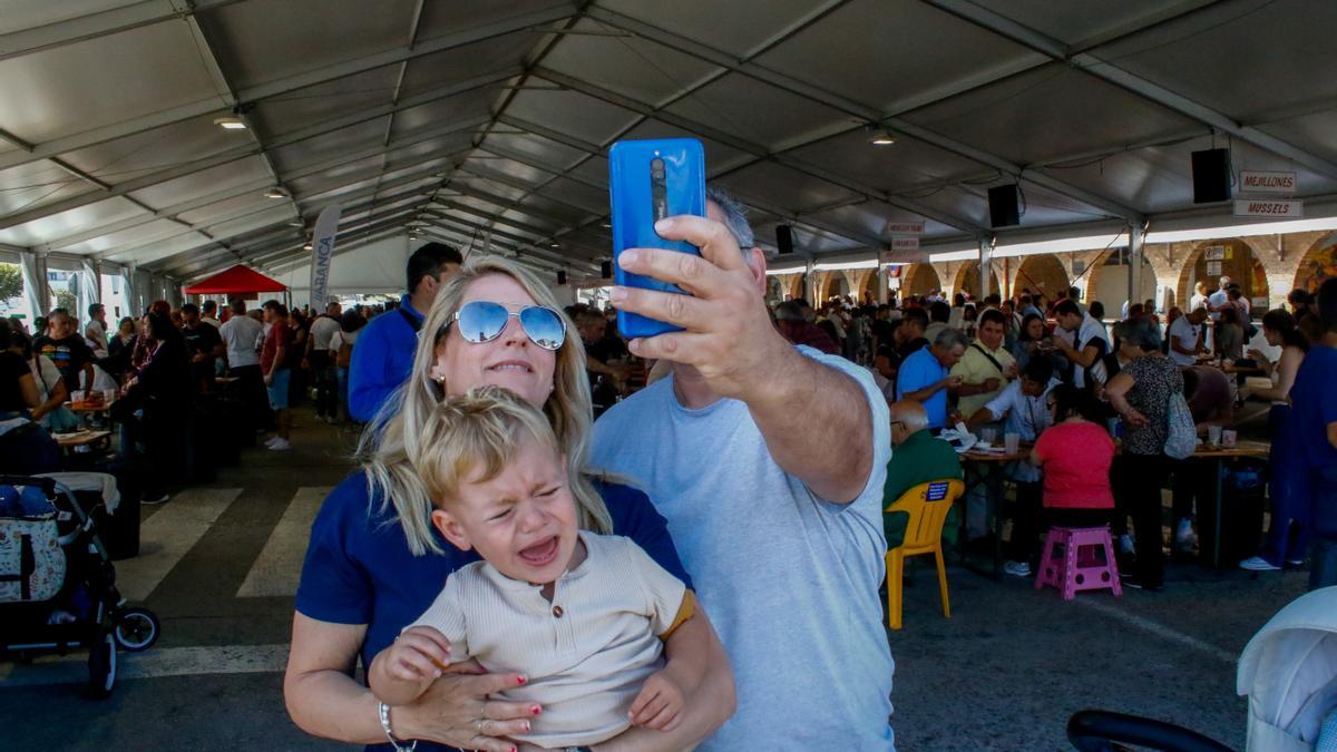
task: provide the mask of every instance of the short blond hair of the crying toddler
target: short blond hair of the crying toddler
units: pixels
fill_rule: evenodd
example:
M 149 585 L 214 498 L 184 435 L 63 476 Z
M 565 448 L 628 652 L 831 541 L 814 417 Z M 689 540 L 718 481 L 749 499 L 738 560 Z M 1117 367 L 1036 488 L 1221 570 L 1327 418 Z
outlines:
M 460 486 L 487 483 L 505 470 L 525 442 L 562 452 L 548 417 L 515 392 L 479 387 L 447 397 L 422 426 L 413 458 L 428 496 L 437 504 L 459 500 Z

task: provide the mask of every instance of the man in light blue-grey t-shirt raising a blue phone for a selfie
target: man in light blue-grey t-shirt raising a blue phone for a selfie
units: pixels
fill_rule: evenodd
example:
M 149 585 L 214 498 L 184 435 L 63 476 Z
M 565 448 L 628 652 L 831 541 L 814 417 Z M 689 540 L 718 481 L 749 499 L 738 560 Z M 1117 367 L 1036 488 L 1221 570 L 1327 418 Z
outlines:
M 618 258 L 690 294 L 614 288 L 620 310 L 685 331 L 630 343 L 673 369 L 599 419 L 591 464 L 634 479 L 667 518 L 729 652 L 738 709 L 699 749 L 892 749 L 886 401 L 868 371 L 779 335 L 742 207 L 707 197 L 709 218 L 655 225 L 699 257 Z

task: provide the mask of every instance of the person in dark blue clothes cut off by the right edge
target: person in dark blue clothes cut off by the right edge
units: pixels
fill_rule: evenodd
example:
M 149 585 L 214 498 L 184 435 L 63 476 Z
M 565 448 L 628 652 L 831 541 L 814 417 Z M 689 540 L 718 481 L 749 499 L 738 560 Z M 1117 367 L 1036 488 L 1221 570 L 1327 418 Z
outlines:
M 1290 446 L 1308 468 L 1314 563 L 1309 589 L 1337 585 L 1337 278 L 1318 288 L 1324 337 L 1309 348 L 1290 388 Z

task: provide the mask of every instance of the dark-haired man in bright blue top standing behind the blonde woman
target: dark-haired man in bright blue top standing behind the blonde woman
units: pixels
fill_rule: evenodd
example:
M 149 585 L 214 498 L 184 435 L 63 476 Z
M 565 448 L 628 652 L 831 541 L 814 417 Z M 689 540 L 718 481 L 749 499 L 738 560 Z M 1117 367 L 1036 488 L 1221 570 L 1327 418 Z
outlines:
M 408 264 L 408 290 L 397 310 L 386 310 L 368 324 L 353 347 L 348 369 L 348 411 L 354 420 L 369 421 L 390 392 L 413 369 L 417 331 L 437 290 L 453 277 L 464 258 L 459 250 L 429 242 L 413 252 Z

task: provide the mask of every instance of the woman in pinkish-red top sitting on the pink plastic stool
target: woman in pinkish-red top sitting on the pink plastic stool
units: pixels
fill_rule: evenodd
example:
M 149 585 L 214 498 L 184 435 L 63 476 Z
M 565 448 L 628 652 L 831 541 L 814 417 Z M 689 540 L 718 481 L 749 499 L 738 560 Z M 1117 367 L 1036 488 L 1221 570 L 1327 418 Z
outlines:
M 1090 393 L 1064 384 L 1050 392 L 1050 407 L 1054 426 L 1031 450 L 1031 462 L 1044 468 L 1042 530 L 1055 525 L 1108 525 L 1114 511 L 1114 442 L 1098 423 L 1100 405 Z

